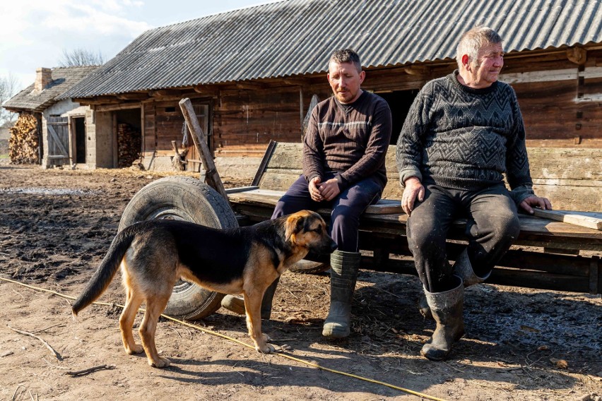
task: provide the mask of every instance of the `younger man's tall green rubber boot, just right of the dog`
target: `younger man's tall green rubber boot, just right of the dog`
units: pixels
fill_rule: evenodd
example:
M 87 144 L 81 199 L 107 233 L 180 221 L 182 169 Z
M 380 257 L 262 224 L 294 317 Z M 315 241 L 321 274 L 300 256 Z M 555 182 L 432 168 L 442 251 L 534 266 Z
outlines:
M 360 253 L 334 251 L 330 257 L 330 311 L 322 335 L 347 337 L 351 326 L 351 301 L 358 280 Z

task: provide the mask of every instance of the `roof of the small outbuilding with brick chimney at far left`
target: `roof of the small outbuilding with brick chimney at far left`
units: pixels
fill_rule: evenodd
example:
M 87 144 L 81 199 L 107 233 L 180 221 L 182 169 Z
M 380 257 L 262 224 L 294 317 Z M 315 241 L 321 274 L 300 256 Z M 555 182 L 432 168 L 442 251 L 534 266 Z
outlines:
M 73 88 L 73 85 L 97 68 L 98 66 L 52 68 L 52 82 L 44 90 L 34 90 L 35 84 L 32 83 L 4 102 L 2 106 L 11 111 L 43 112 L 58 101 L 59 95 Z

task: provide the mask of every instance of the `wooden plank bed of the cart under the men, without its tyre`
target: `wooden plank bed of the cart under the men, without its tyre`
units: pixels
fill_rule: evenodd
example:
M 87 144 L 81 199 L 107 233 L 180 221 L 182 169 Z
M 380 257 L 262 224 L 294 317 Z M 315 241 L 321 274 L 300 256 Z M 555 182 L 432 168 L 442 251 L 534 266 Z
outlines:
M 270 143 L 252 186 L 226 190 L 241 224 L 268 219 L 278 199 L 301 173 L 301 143 Z M 394 146 L 387 154 L 394 166 Z M 391 188 L 393 187 L 393 188 Z M 415 275 L 406 239 L 408 216 L 401 210 L 397 179 L 389 177 L 385 196 L 360 220 L 362 268 Z M 602 192 L 602 188 L 601 188 Z M 392 196 L 391 196 L 392 195 Z M 601 193 L 602 196 L 602 193 Z M 328 219 L 330 210 L 319 210 Z M 557 213 L 565 220 L 602 228 L 602 213 Z M 557 218 L 557 217 L 555 217 Z M 500 285 L 602 294 L 602 231 L 546 217 L 519 215 L 521 233 L 488 279 Z M 579 221 L 577 221 L 579 222 Z M 451 260 L 464 248 L 464 220 L 449 235 Z

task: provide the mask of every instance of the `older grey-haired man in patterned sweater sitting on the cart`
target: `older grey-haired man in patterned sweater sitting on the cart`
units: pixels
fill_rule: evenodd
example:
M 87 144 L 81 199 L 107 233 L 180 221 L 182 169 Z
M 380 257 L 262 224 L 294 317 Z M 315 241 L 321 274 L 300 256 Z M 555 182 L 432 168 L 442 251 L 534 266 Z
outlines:
M 399 136 L 408 244 L 437 328 L 421 354 L 447 357 L 464 335 L 464 287 L 482 282 L 519 234 L 517 206 L 533 213 L 550 201 L 531 188 L 524 123 L 514 90 L 497 80 L 502 39 L 490 28 L 462 35 L 458 70 L 427 83 Z M 504 186 L 506 174 L 512 191 Z M 469 241 L 452 267 L 447 232 L 466 217 Z M 428 310 L 428 309 L 427 309 Z

